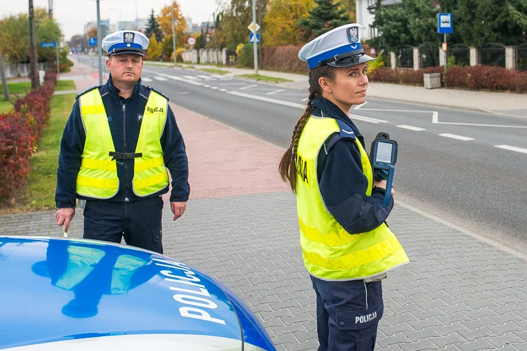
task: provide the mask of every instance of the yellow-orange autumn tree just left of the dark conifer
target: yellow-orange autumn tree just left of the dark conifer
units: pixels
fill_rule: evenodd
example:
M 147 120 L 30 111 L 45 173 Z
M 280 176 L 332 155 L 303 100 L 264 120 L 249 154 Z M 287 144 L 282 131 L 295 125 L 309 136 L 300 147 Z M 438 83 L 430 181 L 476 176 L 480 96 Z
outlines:
M 273 0 L 263 18 L 265 46 L 299 45 L 298 20 L 307 18 L 314 0 Z

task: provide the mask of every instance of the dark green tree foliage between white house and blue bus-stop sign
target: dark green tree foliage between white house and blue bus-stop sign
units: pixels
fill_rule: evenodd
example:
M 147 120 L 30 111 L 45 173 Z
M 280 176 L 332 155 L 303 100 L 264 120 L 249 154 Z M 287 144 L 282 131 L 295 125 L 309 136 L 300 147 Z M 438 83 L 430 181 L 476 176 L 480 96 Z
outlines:
M 436 22 L 439 9 L 431 0 L 403 0 L 389 7 L 383 7 L 381 0 L 376 4 L 373 26 L 380 36 L 370 39 L 369 44 L 396 51 L 401 45 L 438 46 L 441 43 Z

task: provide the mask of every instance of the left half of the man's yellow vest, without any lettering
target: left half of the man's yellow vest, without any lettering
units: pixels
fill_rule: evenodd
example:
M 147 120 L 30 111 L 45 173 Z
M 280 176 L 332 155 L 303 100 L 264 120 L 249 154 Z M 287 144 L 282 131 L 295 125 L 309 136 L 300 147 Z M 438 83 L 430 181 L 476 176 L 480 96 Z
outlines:
M 77 194 L 110 199 L 119 190 L 119 178 L 117 164 L 109 156 L 110 151 L 115 152 L 115 147 L 99 89 L 81 95 L 79 103 L 86 141 L 77 175 Z

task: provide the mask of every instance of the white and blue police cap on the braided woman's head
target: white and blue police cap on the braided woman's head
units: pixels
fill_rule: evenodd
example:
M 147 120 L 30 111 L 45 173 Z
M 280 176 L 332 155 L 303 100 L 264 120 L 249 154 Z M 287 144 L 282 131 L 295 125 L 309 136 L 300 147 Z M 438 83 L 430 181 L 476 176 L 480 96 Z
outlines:
M 308 62 L 309 69 L 321 65 L 348 67 L 375 60 L 365 55 L 360 46 L 361 34 L 363 26 L 358 23 L 342 25 L 308 42 L 300 49 L 298 57 Z

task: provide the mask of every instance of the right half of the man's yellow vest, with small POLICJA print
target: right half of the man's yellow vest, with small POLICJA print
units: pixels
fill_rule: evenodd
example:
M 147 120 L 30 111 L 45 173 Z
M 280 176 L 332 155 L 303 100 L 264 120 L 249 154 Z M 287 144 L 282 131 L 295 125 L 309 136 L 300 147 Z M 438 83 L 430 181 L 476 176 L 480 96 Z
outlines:
M 167 119 L 168 101 L 155 91 L 150 92 L 146 102 L 136 153 L 141 152 L 134 163 L 132 185 L 138 197 L 159 192 L 169 185 L 167 168 L 164 168 L 160 139 Z

